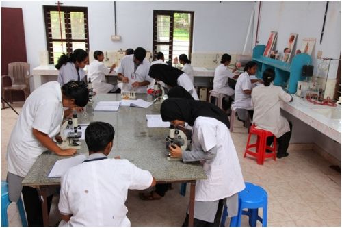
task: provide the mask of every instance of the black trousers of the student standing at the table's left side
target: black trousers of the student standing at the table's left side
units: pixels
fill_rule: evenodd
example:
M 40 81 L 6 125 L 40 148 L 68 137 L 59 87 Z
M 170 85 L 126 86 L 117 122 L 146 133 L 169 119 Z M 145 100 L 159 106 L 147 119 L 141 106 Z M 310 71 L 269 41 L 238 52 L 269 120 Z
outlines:
M 25 211 L 27 214 L 27 223 L 29 227 L 43 227 L 44 224 L 42 220 L 42 203 L 40 202 L 36 188 L 23 186 L 22 193 L 24 198 Z M 50 213 L 52 197 L 53 195 L 47 197 L 48 213 Z

